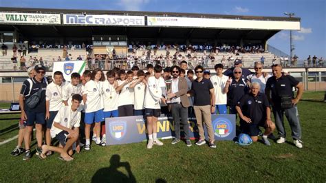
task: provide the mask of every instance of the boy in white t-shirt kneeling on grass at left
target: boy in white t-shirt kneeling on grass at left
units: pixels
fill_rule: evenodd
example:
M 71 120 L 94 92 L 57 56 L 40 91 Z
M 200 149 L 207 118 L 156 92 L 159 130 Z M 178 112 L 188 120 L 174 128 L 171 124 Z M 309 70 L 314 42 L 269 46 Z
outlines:
M 79 126 L 80 126 L 80 111 L 78 107 L 80 106 L 83 97 L 80 94 L 74 94 L 72 96 L 72 105 L 61 107 L 54 118 L 54 122 L 51 127 L 51 136 L 59 141 L 59 147 L 53 147 L 49 145 L 42 146 L 42 153 L 39 154 L 39 158 L 46 158 L 45 153 L 47 151 L 55 151 L 60 153 L 60 159 L 67 162 L 74 160 L 72 158 L 72 145 L 76 142 L 76 151 L 80 151 L 78 136 L 79 136 Z

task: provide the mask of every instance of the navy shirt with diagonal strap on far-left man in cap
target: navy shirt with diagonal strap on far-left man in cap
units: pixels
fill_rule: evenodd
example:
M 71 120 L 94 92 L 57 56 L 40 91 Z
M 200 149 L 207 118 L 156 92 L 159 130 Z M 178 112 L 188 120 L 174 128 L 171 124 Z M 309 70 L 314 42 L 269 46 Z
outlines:
M 43 78 L 43 80 L 41 80 L 41 82 L 37 81 L 35 79 L 35 77 L 27 79 L 27 80 L 24 81 L 23 86 L 21 87 L 20 94 L 24 96 L 25 100 L 27 100 L 30 96 L 32 96 L 36 92 L 39 92 L 40 89 L 42 89 L 41 99 L 40 99 L 39 105 L 37 105 L 33 109 L 30 109 L 27 105 L 24 104 L 24 110 L 25 111 L 45 112 L 45 91 L 46 91 L 46 87 L 47 87 L 46 78 Z

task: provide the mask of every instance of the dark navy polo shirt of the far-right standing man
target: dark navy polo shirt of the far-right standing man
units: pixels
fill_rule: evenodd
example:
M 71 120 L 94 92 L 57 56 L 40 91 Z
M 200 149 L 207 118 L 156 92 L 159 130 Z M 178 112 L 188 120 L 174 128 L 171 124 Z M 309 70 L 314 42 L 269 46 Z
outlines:
M 298 83 L 300 82 L 293 76 L 282 74 L 281 78 L 278 79 L 275 76 L 268 78 L 265 88 L 272 92 L 274 105 L 281 107 L 281 97 L 291 96 L 294 98 L 292 88 L 296 87 Z

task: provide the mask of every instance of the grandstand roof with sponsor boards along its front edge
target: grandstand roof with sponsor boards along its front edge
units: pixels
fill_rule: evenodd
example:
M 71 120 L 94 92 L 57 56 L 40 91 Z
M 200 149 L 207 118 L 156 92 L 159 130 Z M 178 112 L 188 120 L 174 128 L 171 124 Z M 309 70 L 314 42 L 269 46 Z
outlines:
M 195 14 L 195 13 L 180 13 L 180 12 L 135 12 L 135 11 L 112 11 L 112 10 L 63 10 L 63 9 L 45 9 L 45 8 L 0 8 L 0 12 L 19 12 L 19 13 L 45 13 L 45 14 L 63 14 L 61 21 L 64 22 L 63 16 L 65 14 L 78 14 L 78 16 L 84 16 L 88 14 L 109 14 L 109 15 L 123 15 L 123 16 L 142 16 L 144 18 L 144 25 L 133 26 L 133 25 L 80 25 L 70 24 L 65 25 L 64 23 L 58 23 L 57 25 L 42 25 L 41 23 L 25 24 L 25 23 L 10 23 L 0 24 L 0 31 L 17 30 L 24 36 L 30 37 L 91 37 L 91 35 L 127 35 L 129 39 L 248 39 L 248 40 L 267 40 L 271 36 L 279 32 L 280 30 L 298 30 L 300 29 L 300 18 L 297 17 L 254 17 L 254 16 L 239 16 L 239 15 L 221 15 L 221 14 Z M 208 20 L 206 25 L 210 25 L 210 20 L 215 19 L 227 19 L 235 21 L 234 28 L 218 27 L 221 23 L 217 23 L 217 27 L 205 27 L 197 26 L 196 23 L 185 22 L 184 25 L 175 24 L 154 24 L 149 25 L 150 20 L 157 17 L 162 19 L 168 19 L 173 17 L 180 17 L 180 20 L 191 19 L 194 20 Z M 198 19 L 199 18 L 199 19 Z M 154 19 L 156 21 L 156 19 Z M 170 21 L 170 20 L 168 20 Z M 239 21 L 263 21 L 270 23 L 266 25 L 266 28 L 246 28 L 243 23 Z M 273 25 L 271 24 L 272 22 Z M 290 25 L 288 28 L 283 28 L 279 25 L 280 23 L 287 23 Z M 157 23 L 157 22 L 155 22 Z M 252 23 L 261 25 L 261 23 Z M 279 27 L 270 27 L 278 25 Z M 239 26 L 239 28 L 237 27 Z M 78 31 L 76 31 L 78 30 Z

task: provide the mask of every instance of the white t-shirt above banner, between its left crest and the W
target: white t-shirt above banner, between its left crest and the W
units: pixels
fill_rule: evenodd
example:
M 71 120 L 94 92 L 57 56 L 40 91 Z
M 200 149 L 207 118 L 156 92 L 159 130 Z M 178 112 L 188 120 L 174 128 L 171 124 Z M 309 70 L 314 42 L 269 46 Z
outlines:
M 122 85 L 122 83 L 126 82 L 126 80 L 118 80 L 118 85 Z M 134 96 L 133 96 L 133 88 L 130 88 L 130 84 L 124 85 L 120 91 L 118 106 L 122 105 L 133 105 Z

